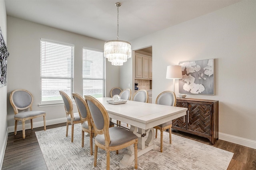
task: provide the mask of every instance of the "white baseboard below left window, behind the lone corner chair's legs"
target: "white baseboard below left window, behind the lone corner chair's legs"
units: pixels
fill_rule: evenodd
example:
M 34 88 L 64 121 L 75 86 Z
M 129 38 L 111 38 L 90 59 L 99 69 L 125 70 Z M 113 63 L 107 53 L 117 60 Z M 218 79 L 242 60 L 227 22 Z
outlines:
M 47 120 L 46 121 L 46 126 L 47 125 L 55 125 L 55 124 L 58 124 L 58 123 L 64 123 L 66 121 L 67 121 L 66 117 L 60 118 L 60 119 Z M 43 127 L 43 126 L 44 126 L 44 121 L 33 122 L 33 128 Z M 31 129 L 30 123 L 25 124 L 25 129 Z M 47 129 L 47 127 L 46 127 L 46 129 Z M 17 131 L 22 131 L 22 125 L 17 126 Z M 14 132 L 14 126 L 9 126 L 8 127 L 8 133 L 10 133 L 10 132 Z

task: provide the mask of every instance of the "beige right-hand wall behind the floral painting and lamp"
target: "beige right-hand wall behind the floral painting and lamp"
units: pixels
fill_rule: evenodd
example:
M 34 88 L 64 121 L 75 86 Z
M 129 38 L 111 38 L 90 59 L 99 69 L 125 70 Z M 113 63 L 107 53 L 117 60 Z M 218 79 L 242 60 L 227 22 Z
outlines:
M 131 41 L 132 49 L 152 45 L 152 101 L 172 89 L 168 65 L 215 60 L 215 95 L 187 98 L 219 100 L 219 138 L 256 148 L 256 1 L 242 1 Z M 130 72 L 134 69 L 126 70 Z M 124 71 L 123 71 L 124 72 Z M 127 80 L 129 81 L 129 80 Z M 178 81 L 175 92 L 178 94 Z

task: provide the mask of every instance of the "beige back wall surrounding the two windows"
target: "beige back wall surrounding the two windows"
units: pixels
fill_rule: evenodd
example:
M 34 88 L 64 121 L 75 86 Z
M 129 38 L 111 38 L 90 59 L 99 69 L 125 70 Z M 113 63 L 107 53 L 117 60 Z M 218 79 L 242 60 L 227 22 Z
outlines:
M 74 92 L 82 95 L 82 48 L 103 51 L 104 41 L 70 33 L 60 29 L 7 17 L 8 28 L 8 89 L 7 96 L 14 89 L 26 89 L 34 96 L 34 110 L 46 111 L 46 124 L 66 121 L 64 106 L 38 107 L 40 103 L 40 38 L 74 44 Z M 119 67 L 106 63 L 106 96 L 111 88 L 119 86 Z M 74 107 L 76 109 L 76 107 Z M 8 130 L 14 131 L 14 111 L 7 102 Z M 18 130 L 21 130 L 18 123 Z M 42 118 L 33 120 L 34 127 L 43 125 Z M 26 128 L 30 128 L 29 121 Z

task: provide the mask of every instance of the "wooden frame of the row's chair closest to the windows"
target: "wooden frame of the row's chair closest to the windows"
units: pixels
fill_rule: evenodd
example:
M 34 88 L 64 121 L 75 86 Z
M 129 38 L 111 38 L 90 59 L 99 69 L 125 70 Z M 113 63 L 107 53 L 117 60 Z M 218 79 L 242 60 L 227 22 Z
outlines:
M 60 95 L 62 96 L 62 98 L 66 98 L 66 100 L 68 100 L 68 104 L 69 104 L 69 110 L 66 108 L 65 102 L 64 102 L 64 107 L 65 107 L 65 112 L 66 112 L 66 117 L 68 117 L 70 115 L 71 120 L 68 120 L 67 118 L 67 123 L 66 123 L 66 137 L 68 136 L 68 125 L 71 124 L 71 142 L 73 142 L 74 140 L 74 124 L 77 123 L 81 123 L 81 120 L 79 121 L 75 121 L 74 120 L 74 113 L 73 113 L 73 103 L 71 98 L 63 91 L 59 91 Z

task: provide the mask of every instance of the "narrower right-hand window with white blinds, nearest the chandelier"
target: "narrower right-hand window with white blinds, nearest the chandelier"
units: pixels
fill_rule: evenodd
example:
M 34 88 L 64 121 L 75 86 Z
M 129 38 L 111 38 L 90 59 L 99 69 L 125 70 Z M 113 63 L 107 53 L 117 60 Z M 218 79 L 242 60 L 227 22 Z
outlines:
M 83 48 L 83 95 L 105 97 L 105 82 L 103 52 Z

